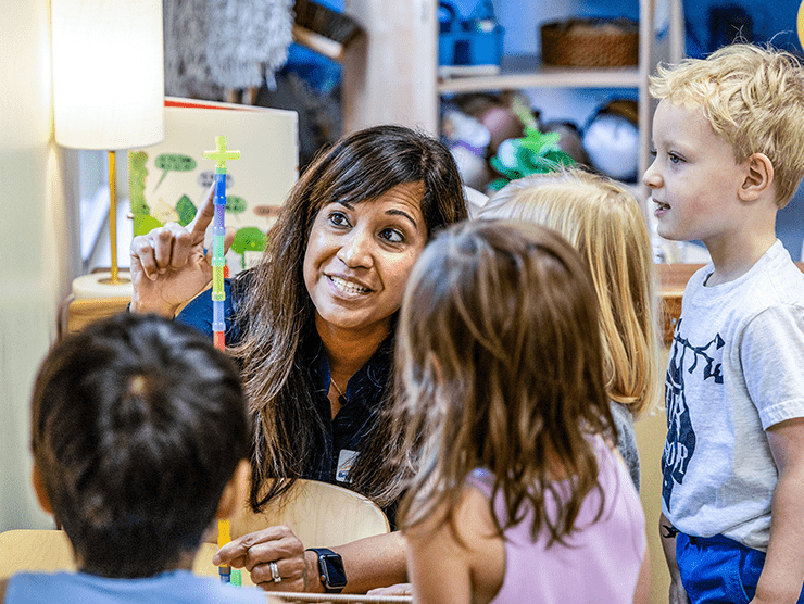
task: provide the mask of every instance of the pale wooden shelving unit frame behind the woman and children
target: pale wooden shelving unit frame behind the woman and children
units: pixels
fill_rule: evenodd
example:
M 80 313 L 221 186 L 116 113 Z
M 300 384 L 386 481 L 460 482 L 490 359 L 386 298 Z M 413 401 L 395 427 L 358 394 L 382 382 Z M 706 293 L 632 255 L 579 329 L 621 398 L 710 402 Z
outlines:
M 542 65 L 538 55 L 512 55 L 503 56 L 499 74 L 441 78 L 435 0 L 347 0 L 347 12 L 367 35 L 365 43 L 349 50 L 343 62 L 344 129 L 392 122 L 438 134 L 442 95 L 532 88 L 635 88 L 642 174 L 649 165 L 653 113 L 648 78 L 659 58 L 677 62 L 683 54 L 681 0 L 667 1 L 669 33 L 659 45 L 654 33 L 655 0 L 639 0 L 639 64 L 635 67 L 560 68 Z

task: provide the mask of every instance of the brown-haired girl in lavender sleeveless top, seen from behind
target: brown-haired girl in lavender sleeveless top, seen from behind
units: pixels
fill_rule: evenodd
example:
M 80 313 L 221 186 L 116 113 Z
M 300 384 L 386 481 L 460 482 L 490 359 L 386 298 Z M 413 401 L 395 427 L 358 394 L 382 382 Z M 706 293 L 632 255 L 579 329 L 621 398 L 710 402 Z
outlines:
M 569 242 L 523 222 L 449 228 L 414 267 L 398 341 L 414 600 L 646 602 L 644 515 Z

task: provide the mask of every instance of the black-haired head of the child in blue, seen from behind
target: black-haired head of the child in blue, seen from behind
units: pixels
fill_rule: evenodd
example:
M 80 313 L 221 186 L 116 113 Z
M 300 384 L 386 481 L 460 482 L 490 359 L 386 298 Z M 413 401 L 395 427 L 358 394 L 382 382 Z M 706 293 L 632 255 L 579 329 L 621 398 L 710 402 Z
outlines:
M 35 485 L 95 575 L 148 577 L 193 554 L 250 435 L 237 366 L 155 316 L 67 337 L 34 386 Z

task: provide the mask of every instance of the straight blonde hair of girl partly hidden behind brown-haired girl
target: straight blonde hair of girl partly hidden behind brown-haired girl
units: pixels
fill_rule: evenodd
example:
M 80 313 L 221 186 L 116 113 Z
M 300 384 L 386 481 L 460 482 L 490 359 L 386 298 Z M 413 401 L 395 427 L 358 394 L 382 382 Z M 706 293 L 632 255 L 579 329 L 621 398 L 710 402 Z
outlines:
M 539 174 L 503 187 L 479 218 L 512 218 L 561 232 L 589 265 L 600 305 L 610 399 L 635 417 L 662 398 L 655 267 L 637 199 L 580 168 Z

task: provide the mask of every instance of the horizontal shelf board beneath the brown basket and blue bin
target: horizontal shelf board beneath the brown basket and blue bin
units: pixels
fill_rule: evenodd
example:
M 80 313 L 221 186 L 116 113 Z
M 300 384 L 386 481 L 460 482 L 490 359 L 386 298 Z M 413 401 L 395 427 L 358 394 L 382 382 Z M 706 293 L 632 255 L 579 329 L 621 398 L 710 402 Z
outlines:
M 538 55 L 503 56 L 494 75 L 439 78 L 440 95 L 515 90 L 520 88 L 638 88 L 643 78 L 639 67 L 553 67 Z

